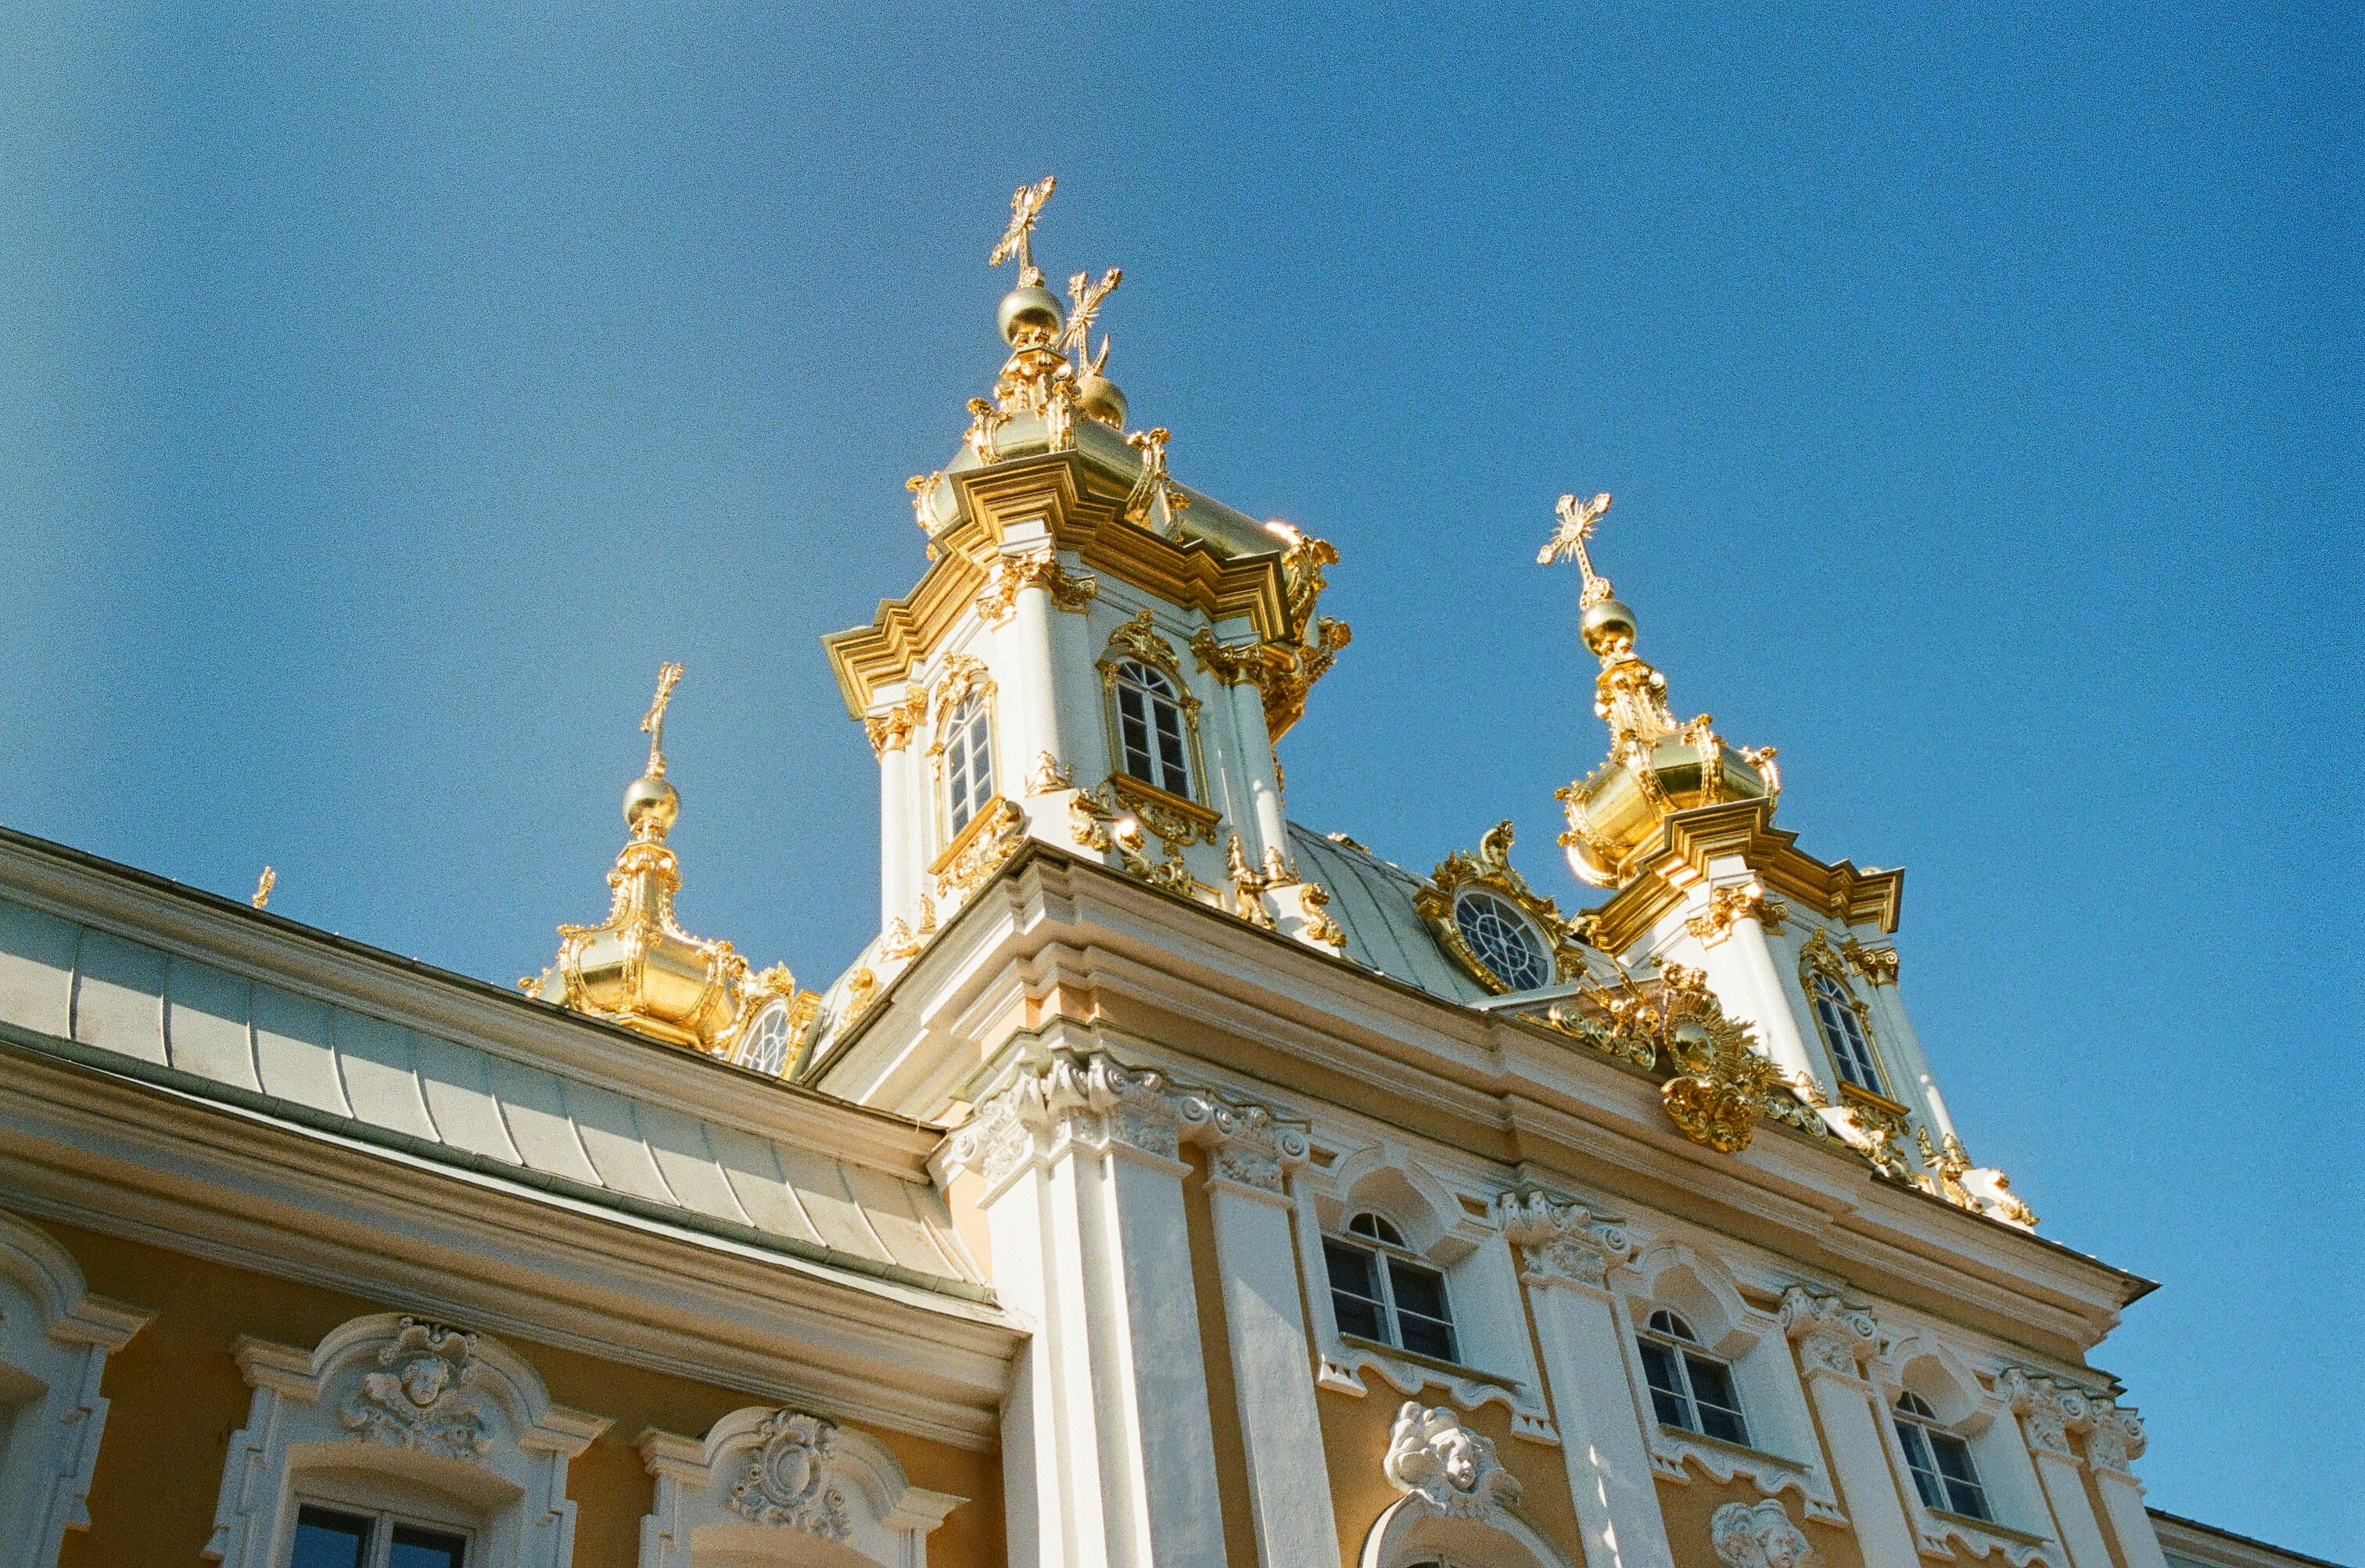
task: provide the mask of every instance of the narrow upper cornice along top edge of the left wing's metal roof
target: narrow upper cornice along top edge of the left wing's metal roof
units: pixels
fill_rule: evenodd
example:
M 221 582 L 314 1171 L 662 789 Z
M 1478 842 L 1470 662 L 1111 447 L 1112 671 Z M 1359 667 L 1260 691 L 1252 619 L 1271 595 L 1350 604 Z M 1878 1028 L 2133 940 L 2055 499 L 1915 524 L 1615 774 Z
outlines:
M 823 1149 L 899 1180 L 927 1180 L 937 1130 L 906 1116 L 660 1045 L 629 1029 L 7 828 L 0 828 L 0 894 L 421 1034 L 615 1086 L 759 1138 Z

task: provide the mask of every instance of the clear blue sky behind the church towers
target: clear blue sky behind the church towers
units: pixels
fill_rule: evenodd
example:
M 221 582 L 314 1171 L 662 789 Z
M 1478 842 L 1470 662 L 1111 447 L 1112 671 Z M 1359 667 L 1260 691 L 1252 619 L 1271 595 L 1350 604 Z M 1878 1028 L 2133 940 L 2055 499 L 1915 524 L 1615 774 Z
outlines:
M 523 9 L 0 24 L 0 821 L 506 981 L 679 657 L 683 918 L 828 979 L 816 639 L 1057 170 L 1135 421 L 1343 553 L 1294 816 L 1575 896 L 1615 492 L 1674 705 L 1909 868 L 1972 1154 L 2164 1282 L 2152 1502 L 2365 1559 L 2356 7 Z

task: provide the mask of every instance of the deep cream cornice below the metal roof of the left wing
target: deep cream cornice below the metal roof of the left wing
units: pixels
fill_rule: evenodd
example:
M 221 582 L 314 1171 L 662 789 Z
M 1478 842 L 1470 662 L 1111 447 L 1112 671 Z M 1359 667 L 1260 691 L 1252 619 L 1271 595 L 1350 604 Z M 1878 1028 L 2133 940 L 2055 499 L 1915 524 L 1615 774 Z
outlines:
M 31 1052 L 12 1055 L 0 1078 L 0 1199 L 963 1447 L 998 1440 L 1003 1388 L 1024 1343 L 991 1305 Z

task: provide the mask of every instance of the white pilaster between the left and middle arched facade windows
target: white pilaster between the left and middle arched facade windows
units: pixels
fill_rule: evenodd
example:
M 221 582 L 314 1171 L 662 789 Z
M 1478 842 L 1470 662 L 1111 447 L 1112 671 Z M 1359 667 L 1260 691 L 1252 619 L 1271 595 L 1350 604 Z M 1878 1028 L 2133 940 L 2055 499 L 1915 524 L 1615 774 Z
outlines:
M 1525 1263 L 1585 1566 L 1674 1568 L 1608 1291 L 1608 1270 L 1632 1251 L 1625 1232 L 1542 1192 L 1507 1194 L 1495 1213 Z

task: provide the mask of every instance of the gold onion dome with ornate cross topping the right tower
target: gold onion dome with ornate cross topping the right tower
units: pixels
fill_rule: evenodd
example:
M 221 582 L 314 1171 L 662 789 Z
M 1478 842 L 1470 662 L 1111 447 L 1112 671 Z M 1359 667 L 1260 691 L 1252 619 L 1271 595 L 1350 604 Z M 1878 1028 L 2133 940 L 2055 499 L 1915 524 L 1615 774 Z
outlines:
M 1618 601 L 1611 579 L 1594 572 L 1592 539 L 1606 494 L 1561 497 L 1561 523 L 1537 561 L 1575 561 L 1585 575 L 1580 627 L 1601 660 L 1594 714 L 1611 726 L 1611 754 L 1585 778 L 1559 790 L 1568 811 L 1568 866 L 1594 887 L 1625 887 L 1634 858 L 1658 842 L 1660 823 L 1677 811 L 1736 799 L 1774 802 L 1781 773 L 1774 747 L 1729 747 L 1708 714 L 1677 724 L 1667 710 L 1667 676 L 1634 653 L 1634 610 Z

